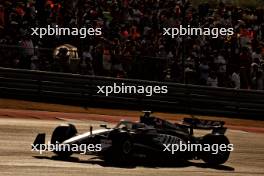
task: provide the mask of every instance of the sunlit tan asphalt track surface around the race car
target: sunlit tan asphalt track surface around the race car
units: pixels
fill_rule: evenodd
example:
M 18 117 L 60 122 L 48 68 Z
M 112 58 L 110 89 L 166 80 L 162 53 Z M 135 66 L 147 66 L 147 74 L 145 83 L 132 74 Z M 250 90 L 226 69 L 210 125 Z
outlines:
M 9 112 L 12 111 L 9 110 Z M 112 166 L 93 156 L 76 154 L 70 160 L 63 161 L 52 153 L 40 155 L 31 151 L 31 144 L 39 132 L 46 132 L 47 138 L 50 139 L 52 130 L 60 123 L 74 123 L 78 131 L 82 133 L 89 130 L 90 125 L 98 127 L 99 124 L 107 123 L 105 122 L 108 121 L 107 119 L 113 120 L 115 117 L 93 114 L 90 115 L 89 120 L 82 117 L 72 119 L 63 113 L 38 112 L 38 115 L 34 115 L 30 111 L 27 111 L 28 116 L 25 117 L 25 111 L 24 113 L 14 112 L 12 114 L 0 109 L 1 176 L 264 175 L 264 133 L 262 132 L 228 130 L 227 136 L 234 144 L 235 150 L 227 163 L 214 168 L 202 161 L 190 161 L 183 165 Z M 43 116 L 45 118 L 41 118 Z

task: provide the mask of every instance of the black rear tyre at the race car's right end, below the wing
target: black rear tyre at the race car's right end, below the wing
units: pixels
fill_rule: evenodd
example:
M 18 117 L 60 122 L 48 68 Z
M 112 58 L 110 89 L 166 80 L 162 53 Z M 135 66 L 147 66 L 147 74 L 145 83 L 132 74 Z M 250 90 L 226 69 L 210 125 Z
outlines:
M 203 137 L 202 144 L 209 144 L 212 148 L 212 145 L 218 145 L 219 147 L 221 144 L 224 144 L 225 146 L 228 146 L 230 142 L 225 135 L 208 134 Z M 220 149 L 218 149 L 218 153 L 214 153 L 215 152 L 212 150 L 203 151 L 201 159 L 209 165 L 220 165 L 228 160 L 230 150 L 228 148 L 225 151 L 221 151 Z

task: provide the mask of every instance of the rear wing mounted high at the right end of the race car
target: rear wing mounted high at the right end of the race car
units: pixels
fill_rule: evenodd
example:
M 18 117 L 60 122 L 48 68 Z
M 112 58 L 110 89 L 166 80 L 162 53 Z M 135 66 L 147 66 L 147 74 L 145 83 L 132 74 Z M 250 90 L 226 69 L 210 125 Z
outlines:
M 226 132 L 224 121 L 184 118 L 183 124 L 189 125 L 193 129 L 213 130 L 213 134 L 224 134 Z

